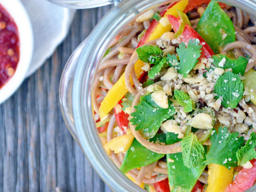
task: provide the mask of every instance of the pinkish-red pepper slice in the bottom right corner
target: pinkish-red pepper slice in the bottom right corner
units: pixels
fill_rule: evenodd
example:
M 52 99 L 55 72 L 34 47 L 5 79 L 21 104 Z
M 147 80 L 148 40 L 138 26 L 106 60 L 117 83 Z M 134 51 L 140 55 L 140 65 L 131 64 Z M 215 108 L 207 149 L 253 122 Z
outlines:
M 225 192 L 243 192 L 252 187 L 256 180 L 256 159 L 252 159 L 250 162 L 252 168 L 242 168 L 235 180 L 226 187 Z

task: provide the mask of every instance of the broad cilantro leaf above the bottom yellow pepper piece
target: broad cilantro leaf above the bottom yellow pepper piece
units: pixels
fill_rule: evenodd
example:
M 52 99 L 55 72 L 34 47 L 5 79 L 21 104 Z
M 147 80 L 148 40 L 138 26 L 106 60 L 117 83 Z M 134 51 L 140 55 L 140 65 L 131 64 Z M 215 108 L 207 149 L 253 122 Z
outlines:
M 206 154 L 205 164 L 215 163 L 226 168 L 236 167 L 236 151 L 243 145 L 243 137 L 238 137 L 238 132 L 228 132 L 228 128 L 219 127 L 219 131 L 213 129 L 210 140 L 211 148 Z

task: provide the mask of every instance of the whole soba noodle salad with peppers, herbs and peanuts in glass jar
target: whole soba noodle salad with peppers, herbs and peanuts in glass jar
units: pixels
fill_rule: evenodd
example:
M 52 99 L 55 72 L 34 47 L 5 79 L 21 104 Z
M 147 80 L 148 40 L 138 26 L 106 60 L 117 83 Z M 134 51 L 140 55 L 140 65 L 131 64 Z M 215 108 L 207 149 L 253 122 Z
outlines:
M 209 0 L 149 10 L 93 85 L 104 148 L 149 192 L 242 192 L 256 180 L 256 20 Z

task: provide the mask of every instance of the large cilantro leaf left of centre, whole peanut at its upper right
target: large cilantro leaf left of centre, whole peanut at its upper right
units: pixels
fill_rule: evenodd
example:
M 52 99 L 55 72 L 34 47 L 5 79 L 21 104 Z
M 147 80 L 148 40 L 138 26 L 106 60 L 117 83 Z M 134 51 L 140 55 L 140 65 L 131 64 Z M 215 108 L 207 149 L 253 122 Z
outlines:
M 169 102 L 169 107 L 163 109 L 159 107 L 151 97 L 151 94 L 141 97 L 141 102 L 134 106 L 137 110 L 131 114 L 134 118 L 130 120 L 132 125 L 137 125 L 135 130 L 143 130 L 143 132 L 151 133 L 157 131 L 162 122 L 167 120 L 175 113 L 175 107 Z M 154 137 L 154 135 L 151 135 Z

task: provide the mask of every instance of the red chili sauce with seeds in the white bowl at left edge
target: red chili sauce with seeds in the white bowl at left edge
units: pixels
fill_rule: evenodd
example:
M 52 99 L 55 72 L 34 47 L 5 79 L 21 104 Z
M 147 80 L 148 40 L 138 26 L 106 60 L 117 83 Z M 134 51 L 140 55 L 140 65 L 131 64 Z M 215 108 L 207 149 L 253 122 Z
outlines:
M 0 5 L 0 88 L 13 76 L 20 57 L 18 28 Z

